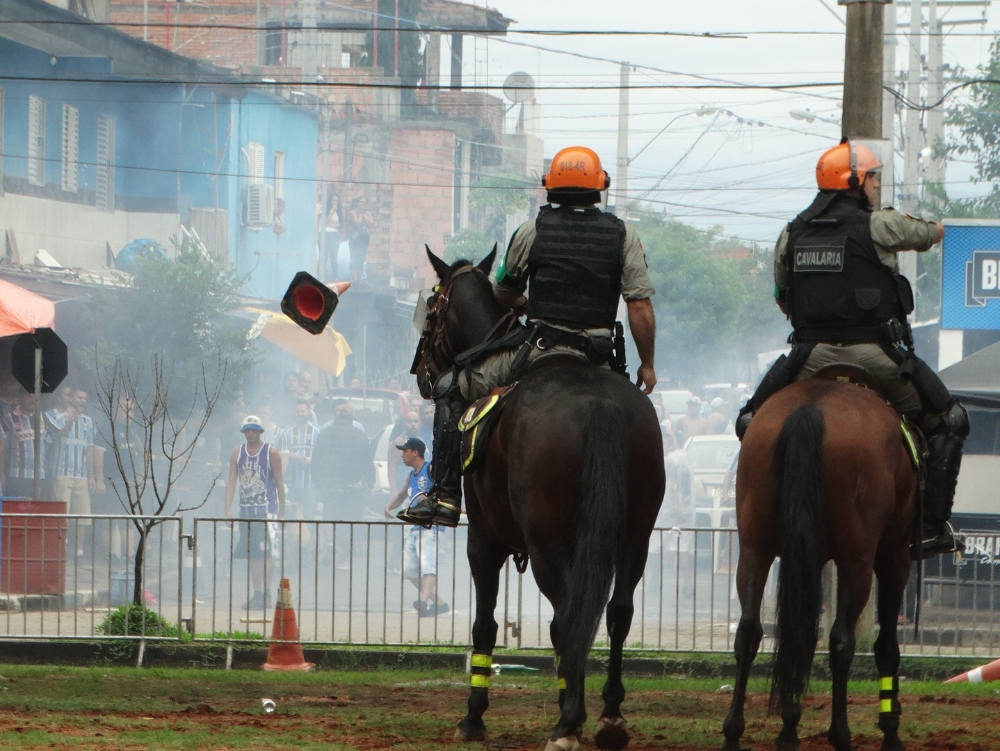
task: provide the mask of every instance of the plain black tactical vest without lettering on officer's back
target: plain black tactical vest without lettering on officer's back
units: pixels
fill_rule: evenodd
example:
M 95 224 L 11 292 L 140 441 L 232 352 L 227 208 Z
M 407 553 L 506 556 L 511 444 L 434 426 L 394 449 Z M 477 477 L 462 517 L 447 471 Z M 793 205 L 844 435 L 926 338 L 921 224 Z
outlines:
M 597 208 L 542 206 L 528 251 L 528 317 L 611 328 L 618 312 L 625 223 Z

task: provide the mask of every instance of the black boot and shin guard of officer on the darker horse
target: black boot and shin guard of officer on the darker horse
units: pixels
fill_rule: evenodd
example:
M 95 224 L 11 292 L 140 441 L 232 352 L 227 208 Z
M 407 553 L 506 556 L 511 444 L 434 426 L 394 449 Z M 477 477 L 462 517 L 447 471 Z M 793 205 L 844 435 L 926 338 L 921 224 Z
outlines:
M 458 526 L 462 515 L 462 434 L 458 419 L 468 406 L 454 371 L 443 373 L 434 384 L 433 485 L 420 501 L 396 515 L 404 522 L 428 529 L 436 525 Z

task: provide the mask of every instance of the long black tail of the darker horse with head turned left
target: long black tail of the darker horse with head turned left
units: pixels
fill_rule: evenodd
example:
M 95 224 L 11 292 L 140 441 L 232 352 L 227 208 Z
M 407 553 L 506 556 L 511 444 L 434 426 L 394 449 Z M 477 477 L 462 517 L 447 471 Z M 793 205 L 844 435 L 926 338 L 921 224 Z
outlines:
M 582 498 L 561 609 L 566 616 L 558 621 L 563 675 L 582 675 L 624 550 L 627 435 L 616 405 L 594 403 L 583 426 Z

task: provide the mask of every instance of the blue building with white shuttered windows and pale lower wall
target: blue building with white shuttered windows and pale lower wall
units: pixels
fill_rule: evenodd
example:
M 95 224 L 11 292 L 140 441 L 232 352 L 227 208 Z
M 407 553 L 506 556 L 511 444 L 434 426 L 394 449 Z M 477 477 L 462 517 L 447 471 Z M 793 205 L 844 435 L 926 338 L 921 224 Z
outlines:
M 99 269 L 183 226 L 279 297 L 314 267 L 317 117 L 43 0 L 0 0 L 0 232 L 12 260 Z

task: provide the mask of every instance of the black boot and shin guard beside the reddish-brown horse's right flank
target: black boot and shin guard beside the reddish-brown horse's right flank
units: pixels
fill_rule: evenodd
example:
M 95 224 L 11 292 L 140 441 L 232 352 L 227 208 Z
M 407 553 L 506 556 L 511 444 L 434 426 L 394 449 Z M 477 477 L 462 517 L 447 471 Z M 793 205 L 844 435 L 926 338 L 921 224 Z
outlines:
M 953 402 L 941 424 L 927 440 L 927 481 L 924 485 L 920 543 L 910 546 L 910 557 L 922 561 L 939 553 L 962 553 L 965 544 L 955 537 L 948 520 L 955 501 L 955 485 L 962 462 L 962 445 L 969 435 L 969 416 Z

